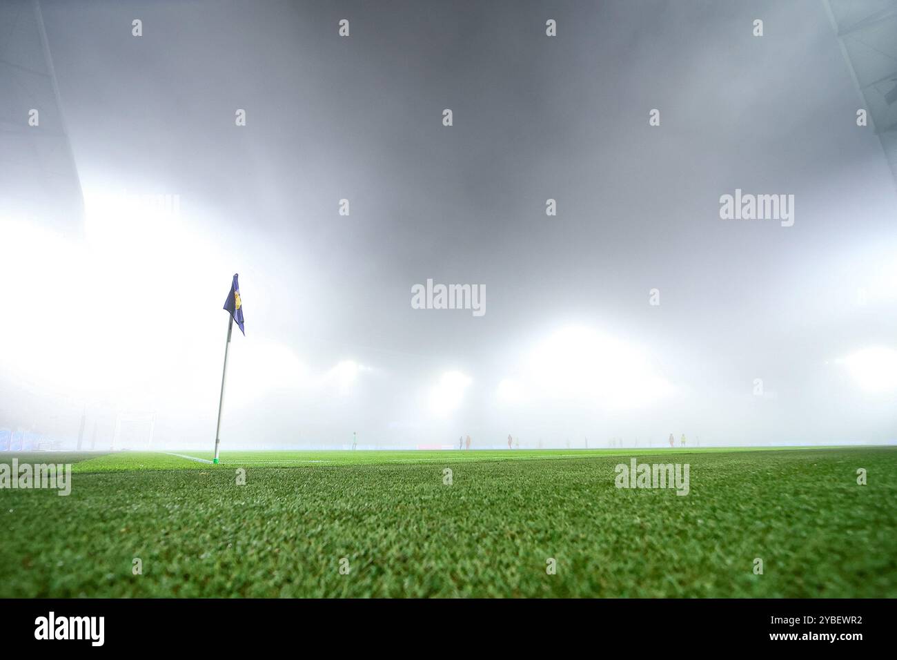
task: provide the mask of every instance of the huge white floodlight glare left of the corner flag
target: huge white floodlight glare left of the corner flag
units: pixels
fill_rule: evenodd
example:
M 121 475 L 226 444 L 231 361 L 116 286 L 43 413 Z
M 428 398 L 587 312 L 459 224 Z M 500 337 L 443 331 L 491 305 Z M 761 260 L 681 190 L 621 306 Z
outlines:
M 4 304 L 17 317 L 0 329 L 0 343 L 15 347 L 2 367 L 123 406 L 185 400 L 221 360 L 206 347 L 213 331 L 223 346 L 224 315 L 196 300 L 222 296 L 229 265 L 189 231 L 175 198 L 85 189 L 84 201 L 83 238 L 0 218 L 0 281 L 15 283 Z

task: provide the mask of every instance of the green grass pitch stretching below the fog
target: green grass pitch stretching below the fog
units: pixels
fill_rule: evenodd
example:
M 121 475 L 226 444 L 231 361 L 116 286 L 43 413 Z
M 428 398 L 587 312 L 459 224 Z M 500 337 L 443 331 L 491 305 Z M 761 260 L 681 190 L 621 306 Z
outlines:
M 0 489 L 2 597 L 897 596 L 897 447 L 18 458 L 72 493 Z

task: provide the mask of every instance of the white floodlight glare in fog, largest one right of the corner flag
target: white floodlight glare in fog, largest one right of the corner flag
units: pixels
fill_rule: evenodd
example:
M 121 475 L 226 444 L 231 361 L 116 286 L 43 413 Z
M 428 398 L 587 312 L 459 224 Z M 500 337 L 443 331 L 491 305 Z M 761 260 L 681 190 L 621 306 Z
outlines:
M 606 408 L 648 405 L 673 390 L 639 348 L 588 328 L 555 332 L 532 352 L 528 368 L 536 392 Z

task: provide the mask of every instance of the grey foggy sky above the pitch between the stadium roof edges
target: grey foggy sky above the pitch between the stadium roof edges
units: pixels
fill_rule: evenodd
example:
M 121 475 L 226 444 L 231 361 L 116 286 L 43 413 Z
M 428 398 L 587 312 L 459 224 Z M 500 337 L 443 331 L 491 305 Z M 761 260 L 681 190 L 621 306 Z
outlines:
M 247 444 L 339 444 L 354 426 L 406 444 L 468 432 L 497 443 L 509 427 L 546 442 L 897 436 L 893 391 L 860 393 L 836 362 L 897 348 L 897 224 L 823 4 L 41 4 L 85 195 L 180 200 L 175 234 L 143 226 L 104 271 L 126 282 L 137 264 L 158 269 L 148 284 L 133 275 L 154 301 L 125 303 L 116 331 L 167 335 L 138 335 L 166 354 L 128 383 L 136 402 L 116 402 L 109 382 L 85 395 L 107 416 L 153 409 L 160 433 L 201 443 L 220 304 L 239 271 L 247 337 L 233 345 L 246 355 L 231 368 L 232 424 Z M 719 197 L 735 189 L 794 195 L 795 224 L 720 219 Z M 427 278 L 484 285 L 486 313 L 412 309 L 411 286 Z M 100 290 L 92 303 L 120 300 Z M 498 383 L 537 380 L 525 356 L 571 325 L 640 347 L 675 392 L 646 392 L 625 412 L 541 391 L 497 409 Z M 259 371 L 262 344 L 271 364 Z M 109 361 L 102 344 L 91 351 Z M 292 359 L 311 374 L 365 368 L 352 392 L 311 397 L 283 375 Z M 596 359 L 584 368 L 613 381 Z M 417 393 L 447 370 L 472 383 L 430 423 Z

